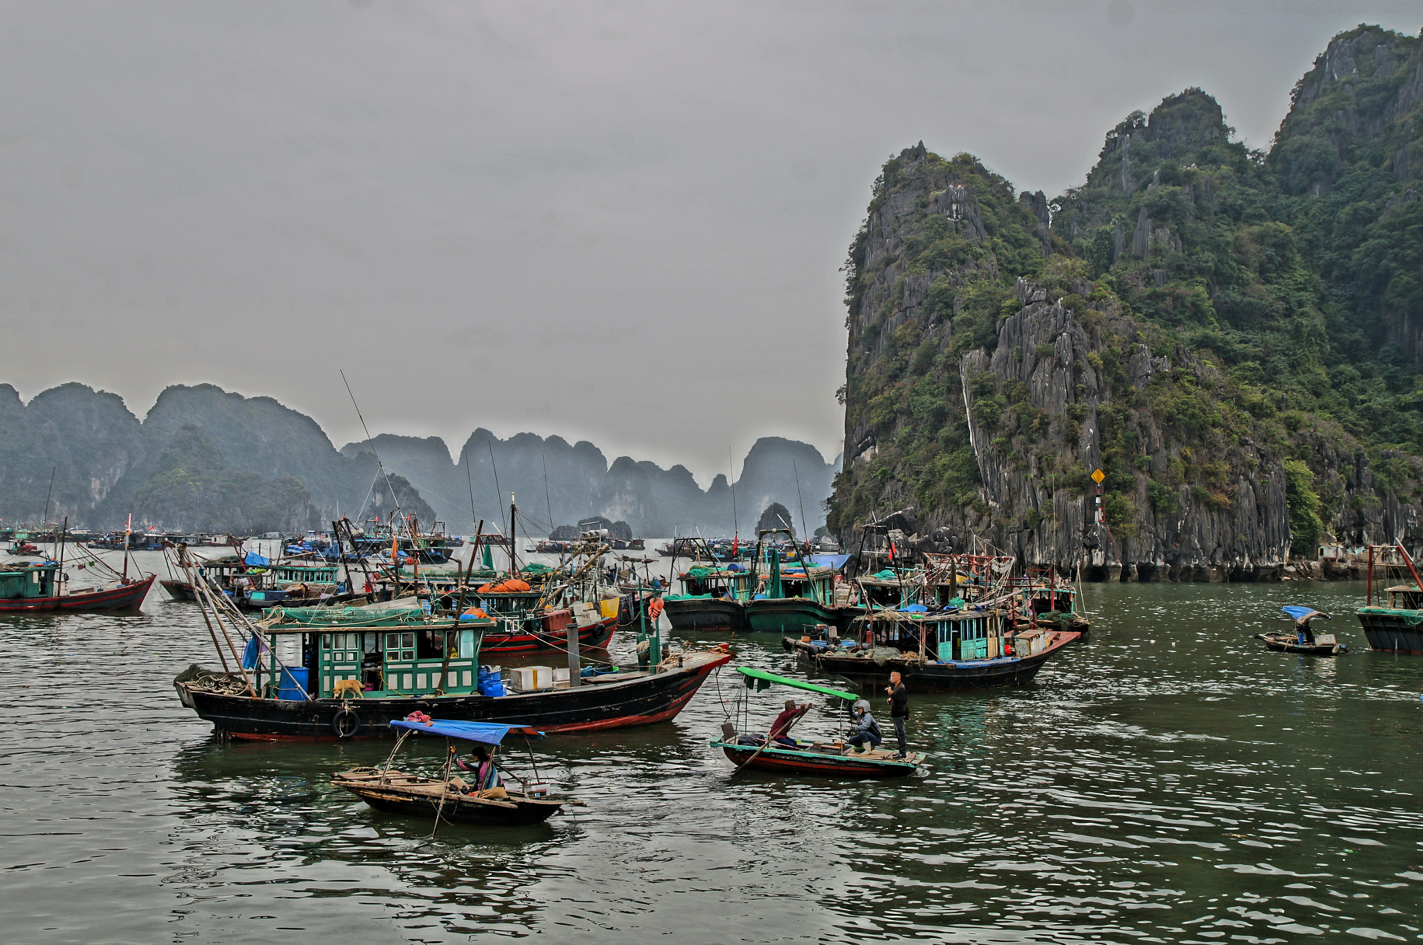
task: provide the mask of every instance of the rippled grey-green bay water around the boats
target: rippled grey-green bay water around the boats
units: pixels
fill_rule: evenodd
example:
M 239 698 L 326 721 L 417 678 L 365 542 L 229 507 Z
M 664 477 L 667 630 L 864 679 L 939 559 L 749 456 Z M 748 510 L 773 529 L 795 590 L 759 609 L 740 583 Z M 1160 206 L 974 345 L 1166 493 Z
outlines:
M 0 618 L 0 938 L 1423 938 L 1423 658 L 1363 649 L 1363 587 L 1086 590 L 1091 642 L 1036 685 L 914 698 L 919 777 L 730 777 L 723 672 L 672 723 L 539 743 L 588 807 L 434 840 L 326 783 L 388 742 L 223 745 L 184 709 L 172 676 L 215 662 L 191 604 Z M 1356 652 L 1265 652 L 1251 634 L 1294 603 Z M 805 672 L 770 638 L 736 649 Z M 770 718 L 785 695 L 751 698 Z M 803 722 L 835 725 L 828 699 Z

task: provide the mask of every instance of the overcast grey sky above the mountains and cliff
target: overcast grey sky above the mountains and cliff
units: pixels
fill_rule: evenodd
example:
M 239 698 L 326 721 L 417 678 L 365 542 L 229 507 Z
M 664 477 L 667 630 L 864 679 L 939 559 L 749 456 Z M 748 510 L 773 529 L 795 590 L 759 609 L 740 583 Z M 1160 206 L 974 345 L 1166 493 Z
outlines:
M 209 381 L 360 428 L 840 450 L 842 276 L 921 138 L 1079 183 L 1201 85 L 1252 146 L 1423 4 L 6 3 L 0 381 Z

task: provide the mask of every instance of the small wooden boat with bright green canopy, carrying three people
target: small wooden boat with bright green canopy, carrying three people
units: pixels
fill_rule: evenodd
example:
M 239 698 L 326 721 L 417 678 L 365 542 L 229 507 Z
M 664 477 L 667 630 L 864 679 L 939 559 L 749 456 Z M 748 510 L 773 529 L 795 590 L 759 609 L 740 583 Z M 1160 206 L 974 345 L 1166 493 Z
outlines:
M 778 684 L 807 692 L 844 699 L 847 703 L 855 702 L 859 696 L 852 692 L 841 692 L 830 686 L 821 686 L 804 679 L 778 676 L 764 669 L 737 666 L 746 678 L 747 689 L 766 684 Z M 743 693 L 744 695 L 744 693 Z M 744 711 L 747 702 L 737 701 L 737 711 Z M 743 728 L 744 723 L 743 723 Z M 787 729 L 788 730 L 788 729 Z M 794 746 L 780 742 L 767 745 L 764 733 L 739 733 L 733 722 L 721 725 L 721 738 L 712 740 L 712 747 L 721 749 L 727 760 L 737 766 L 737 770 L 761 770 L 780 774 L 821 774 L 828 777 L 904 777 L 912 774 L 924 763 L 922 752 L 909 752 L 904 757 L 895 757 L 888 749 L 874 747 L 857 752 L 852 746 L 841 740 L 803 740 L 791 739 Z

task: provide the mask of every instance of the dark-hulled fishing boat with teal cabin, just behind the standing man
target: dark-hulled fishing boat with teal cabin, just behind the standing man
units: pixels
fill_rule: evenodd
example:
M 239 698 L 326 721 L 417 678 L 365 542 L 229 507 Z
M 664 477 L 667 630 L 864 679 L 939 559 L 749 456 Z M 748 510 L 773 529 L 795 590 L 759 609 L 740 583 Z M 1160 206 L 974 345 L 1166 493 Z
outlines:
M 840 645 L 811 658 L 821 671 L 861 688 L 882 686 L 898 672 L 909 692 L 962 692 L 1025 685 L 1080 637 L 1047 627 L 1009 630 L 1005 617 L 988 607 L 875 611 L 858 618 Z

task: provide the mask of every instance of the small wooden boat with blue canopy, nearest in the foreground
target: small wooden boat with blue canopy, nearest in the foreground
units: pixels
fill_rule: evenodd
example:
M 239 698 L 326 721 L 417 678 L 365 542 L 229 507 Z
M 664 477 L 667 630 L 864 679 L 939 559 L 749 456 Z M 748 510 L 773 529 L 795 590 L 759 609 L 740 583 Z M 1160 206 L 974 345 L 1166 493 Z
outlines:
M 435 830 L 438 830 L 441 820 L 481 827 L 538 824 L 556 814 L 565 804 L 579 803 L 566 797 L 554 797 L 548 793 L 548 784 L 536 780 L 525 783 L 509 772 L 504 772 L 504 774 L 519 780 L 524 790 L 514 792 L 492 783 L 498 777 L 492 759 L 509 732 L 525 738 L 544 738 L 542 732 L 527 725 L 453 722 L 411 713 L 404 719 L 396 719 L 391 726 L 403 730 L 396 740 L 396 747 L 390 752 L 390 757 L 386 759 L 384 767 L 353 767 L 332 777 L 333 786 L 349 790 L 376 810 L 434 819 Z M 441 777 L 424 777 L 398 772 L 390 766 L 396 753 L 413 733 L 444 736 L 447 752 Z M 482 777 L 491 783 L 481 784 L 478 783 L 481 776 L 475 776 L 475 783 L 471 784 L 458 773 L 453 773 L 451 769 L 458 753 L 450 745 L 451 740 L 472 742 L 484 747 L 491 763 L 488 774 Z M 532 753 L 529 759 L 532 760 Z M 534 772 L 536 779 L 538 769 L 535 767 Z

